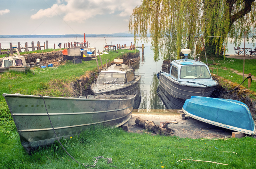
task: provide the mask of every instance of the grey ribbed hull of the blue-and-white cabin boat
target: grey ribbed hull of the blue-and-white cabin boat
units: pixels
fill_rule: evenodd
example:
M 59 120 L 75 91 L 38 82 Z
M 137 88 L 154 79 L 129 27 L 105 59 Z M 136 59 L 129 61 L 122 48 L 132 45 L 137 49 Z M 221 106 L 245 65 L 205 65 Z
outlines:
M 166 77 L 161 73 L 159 74 L 159 81 L 160 85 L 166 92 L 168 92 L 172 97 L 178 99 L 190 99 L 191 96 L 209 97 L 218 85 L 213 85 L 211 87 L 183 85 L 175 82 L 171 77 Z

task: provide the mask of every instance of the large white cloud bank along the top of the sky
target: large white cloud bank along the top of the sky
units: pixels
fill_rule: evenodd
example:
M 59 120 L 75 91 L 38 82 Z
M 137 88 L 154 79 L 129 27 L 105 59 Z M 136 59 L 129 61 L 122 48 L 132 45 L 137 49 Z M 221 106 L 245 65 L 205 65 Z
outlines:
M 58 0 L 57 4 L 47 9 L 40 9 L 30 18 L 40 19 L 64 15 L 64 21 L 81 23 L 96 15 L 117 13 L 120 17 L 130 16 L 133 8 L 140 4 L 140 0 L 130 0 L 129 3 L 119 0 L 63 0 L 61 2 Z

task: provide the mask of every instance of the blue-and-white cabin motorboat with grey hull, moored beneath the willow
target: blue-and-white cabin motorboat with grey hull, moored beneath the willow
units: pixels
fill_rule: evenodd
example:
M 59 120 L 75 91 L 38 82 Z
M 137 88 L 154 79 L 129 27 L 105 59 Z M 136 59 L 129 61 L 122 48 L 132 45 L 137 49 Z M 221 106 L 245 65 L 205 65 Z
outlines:
M 209 97 L 218 86 L 212 80 L 209 67 L 201 61 L 188 59 L 190 49 L 181 49 L 184 59 L 171 62 L 170 73 L 158 72 L 160 86 L 172 97 L 190 99 L 191 96 Z

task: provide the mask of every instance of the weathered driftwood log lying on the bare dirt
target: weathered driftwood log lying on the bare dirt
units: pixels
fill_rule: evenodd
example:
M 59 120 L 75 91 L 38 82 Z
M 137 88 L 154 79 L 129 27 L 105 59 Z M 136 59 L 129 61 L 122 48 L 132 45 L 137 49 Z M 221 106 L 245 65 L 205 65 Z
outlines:
M 154 123 L 154 121 L 147 121 L 147 120 L 143 120 L 140 117 L 138 117 L 135 120 L 135 123 L 143 126 L 146 130 L 151 130 L 151 131 L 155 132 L 157 135 L 158 134 L 164 134 L 164 135 L 172 135 L 173 134 L 171 129 L 161 128 L 160 126 L 156 125 Z

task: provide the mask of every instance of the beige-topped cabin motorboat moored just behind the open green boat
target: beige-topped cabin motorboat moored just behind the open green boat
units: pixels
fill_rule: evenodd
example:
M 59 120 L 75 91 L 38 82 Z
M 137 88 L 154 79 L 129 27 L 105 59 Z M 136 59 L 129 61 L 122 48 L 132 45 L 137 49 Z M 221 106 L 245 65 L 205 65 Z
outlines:
M 131 59 L 130 61 L 132 61 L 132 66 L 130 66 L 130 63 L 129 66 L 123 64 L 123 59 L 115 59 L 115 64 L 101 70 L 95 83 L 91 85 L 92 92 L 106 95 L 135 94 L 133 109 L 138 109 L 141 100 L 141 76 L 135 76 L 133 60 Z

